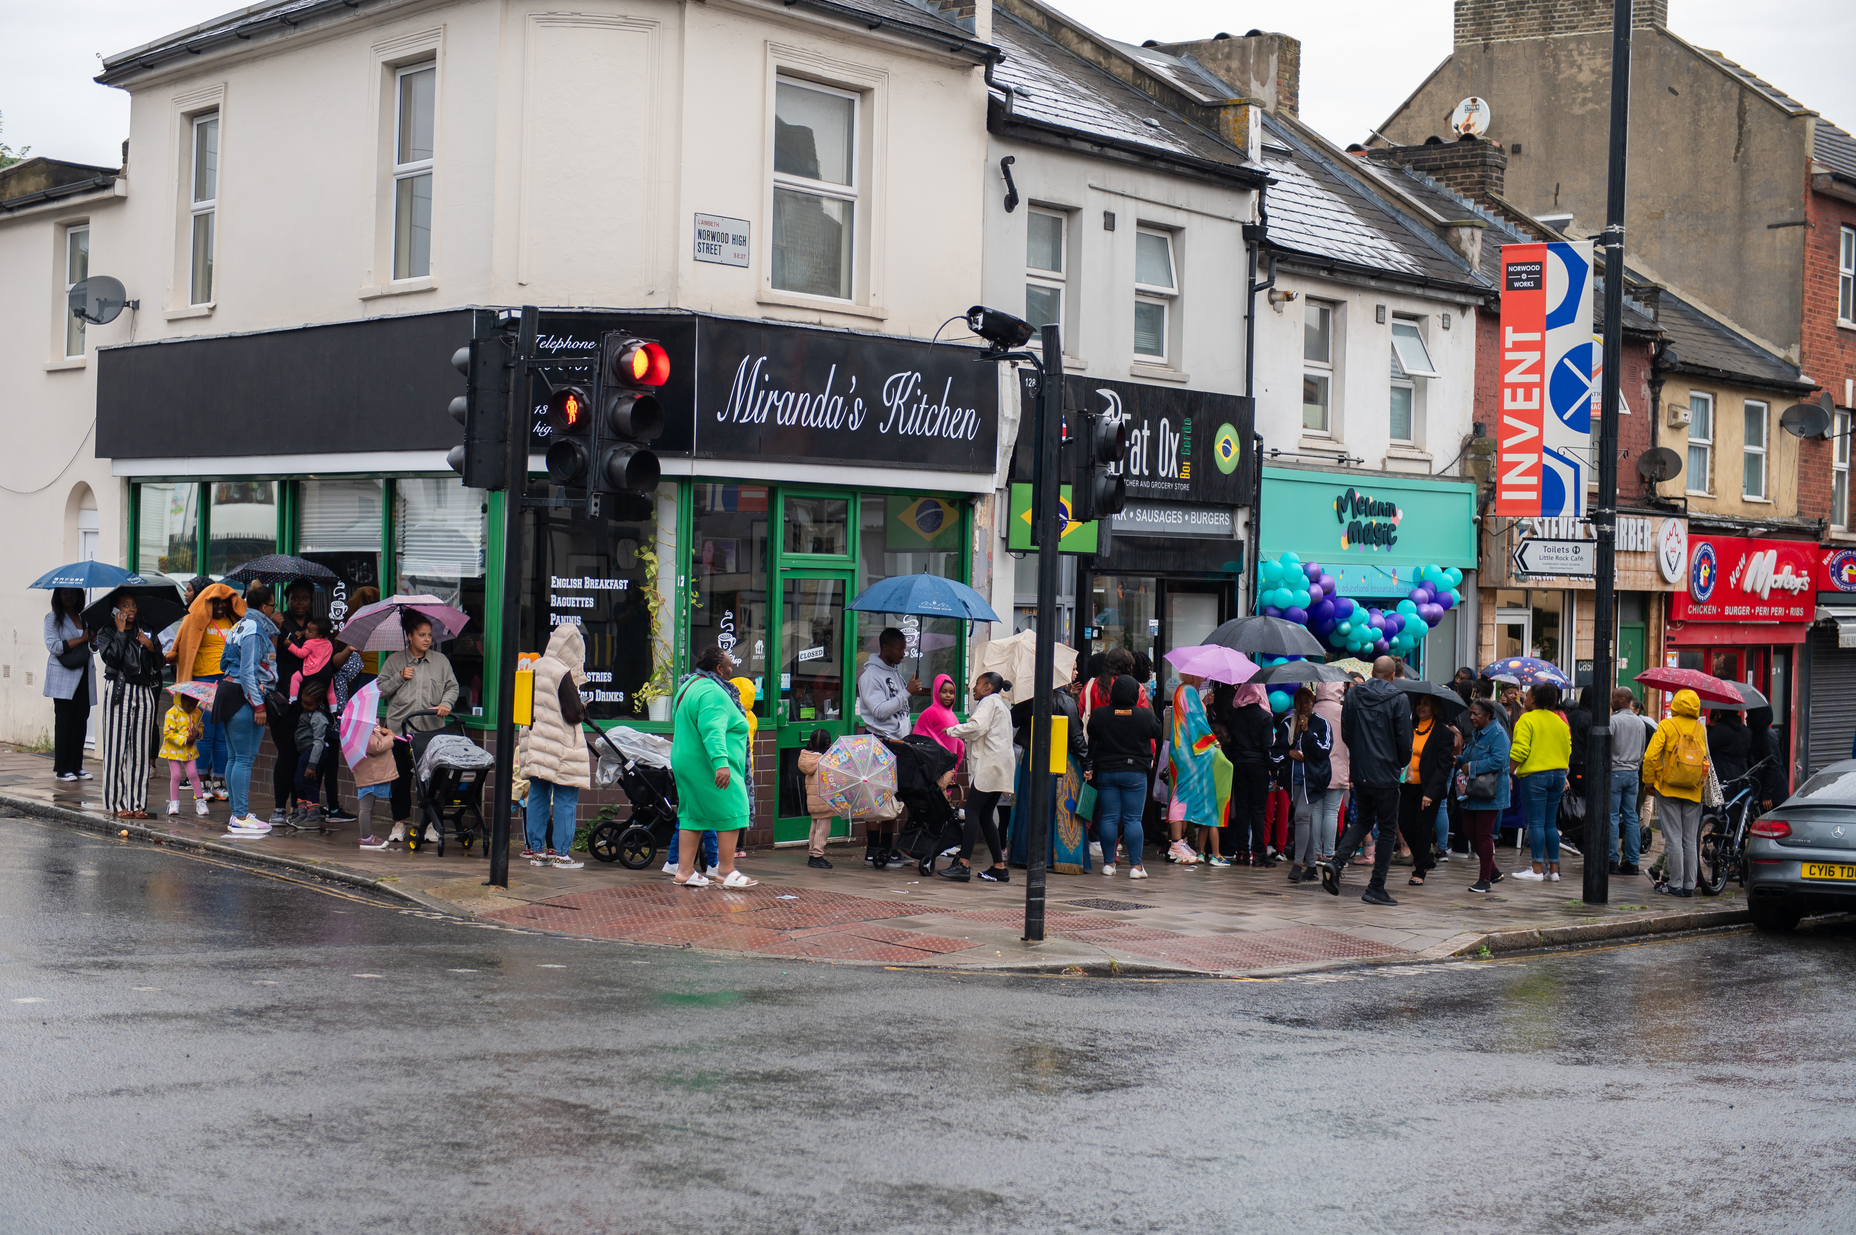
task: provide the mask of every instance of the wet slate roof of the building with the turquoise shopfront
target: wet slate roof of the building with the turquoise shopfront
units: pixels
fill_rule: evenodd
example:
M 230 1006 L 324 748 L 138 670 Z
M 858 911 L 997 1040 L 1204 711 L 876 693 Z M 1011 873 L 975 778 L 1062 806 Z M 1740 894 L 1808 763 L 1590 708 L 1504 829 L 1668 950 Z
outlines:
M 1264 117 L 1264 143 L 1262 163 L 1275 178 L 1264 204 L 1277 249 L 1477 292 L 1494 288 L 1427 225 L 1366 188 L 1359 169 L 1334 162 L 1346 156 L 1323 152 L 1275 115 Z

